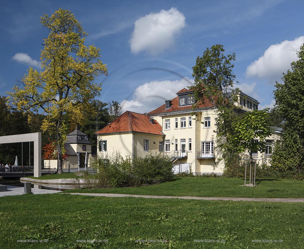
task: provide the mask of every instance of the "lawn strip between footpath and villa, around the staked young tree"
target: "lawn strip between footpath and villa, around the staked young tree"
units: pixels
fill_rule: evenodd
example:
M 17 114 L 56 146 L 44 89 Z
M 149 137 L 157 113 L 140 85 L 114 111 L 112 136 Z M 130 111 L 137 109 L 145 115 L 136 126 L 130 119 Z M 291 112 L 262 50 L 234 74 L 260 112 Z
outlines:
M 257 179 L 256 187 L 242 187 L 241 178 L 184 177 L 143 187 L 73 189 L 65 192 L 144 194 L 199 197 L 304 198 L 304 181 Z

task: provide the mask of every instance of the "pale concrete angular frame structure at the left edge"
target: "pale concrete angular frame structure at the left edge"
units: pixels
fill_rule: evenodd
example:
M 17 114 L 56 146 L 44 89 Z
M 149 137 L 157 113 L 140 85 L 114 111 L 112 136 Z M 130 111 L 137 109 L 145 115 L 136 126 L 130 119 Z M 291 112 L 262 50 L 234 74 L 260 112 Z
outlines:
M 34 142 L 34 177 L 41 176 L 41 132 L 0 137 L 0 144 Z

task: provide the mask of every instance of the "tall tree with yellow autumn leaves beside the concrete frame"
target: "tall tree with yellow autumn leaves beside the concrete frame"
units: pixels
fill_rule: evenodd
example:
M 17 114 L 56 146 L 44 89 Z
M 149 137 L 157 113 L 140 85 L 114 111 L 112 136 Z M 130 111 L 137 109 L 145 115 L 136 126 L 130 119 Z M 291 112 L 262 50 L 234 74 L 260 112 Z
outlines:
M 8 103 L 19 110 L 47 113 L 42 130 L 57 134 L 58 173 L 62 173 L 62 155 L 66 140 L 66 123 L 83 123 L 92 115 L 90 101 L 100 95 L 101 83 L 94 81 L 107 74 L 100 58 L 100 48 L 84 45 L 87 34 L 69 10 L 44 14 L 40 23 L 50 34 L 43 39 L 42 71 L 29 68 L 19 85 L 9 92 Z

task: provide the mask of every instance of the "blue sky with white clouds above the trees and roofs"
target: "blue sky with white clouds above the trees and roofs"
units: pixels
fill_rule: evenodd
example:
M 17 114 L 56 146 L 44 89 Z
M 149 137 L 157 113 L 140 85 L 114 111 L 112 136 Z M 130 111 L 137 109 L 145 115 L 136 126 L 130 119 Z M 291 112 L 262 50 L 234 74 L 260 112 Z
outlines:
M 109 75 L 98 79 L 98 99 L 134 112 L 153 110 L 189 86 L 196 57 L 214 44 L 236 54 L 237 86 L 260 109 L 271 107 L 275 81 L 304 43 L 302 1 L 3 1 L 0 95 L 39 66 L 48 34 L 40 16 L 60 7 L 81 22 L 86 45 L 102 50 Z

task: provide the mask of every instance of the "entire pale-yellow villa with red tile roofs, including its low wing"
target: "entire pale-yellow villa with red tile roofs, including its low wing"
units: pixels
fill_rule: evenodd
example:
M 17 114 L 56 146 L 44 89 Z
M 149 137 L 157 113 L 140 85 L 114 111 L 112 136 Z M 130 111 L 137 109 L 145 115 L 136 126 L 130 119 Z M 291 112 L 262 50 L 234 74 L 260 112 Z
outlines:
M 120 151 L 122 155 L 133 157 L 143 156 L 150 150 L 158 151 L 171 158 L 176 173 L 185 170 L 191 170 L 195 175 L 223 173 L 220 150 L 215 149 L 217 109 L 211 102 L 205 101 L 193 111 L 194 101 L 192 91 L 184 88 L 177 92 L 177 97 L 165 101 L 147 115 L 125 112 L 96 132 L 97 150 L 99 153 Z M 257 110 L 258 104 L 257 100 L 244 93 L 240 93 L 235 102 L 243 112 Z M 192 116 L 193 112 L 195 116 Z M 280 132 L 277 129 L 272 137 L 267 138 L 267 151 L 253 153 L 254 158 L 268 161 L 272 143 L 278 139 Z M 249 153 L 243 153 L 241 157 L 249 158 Z

